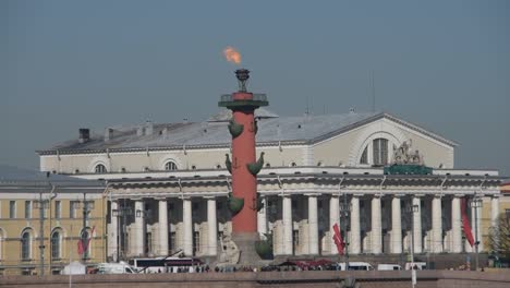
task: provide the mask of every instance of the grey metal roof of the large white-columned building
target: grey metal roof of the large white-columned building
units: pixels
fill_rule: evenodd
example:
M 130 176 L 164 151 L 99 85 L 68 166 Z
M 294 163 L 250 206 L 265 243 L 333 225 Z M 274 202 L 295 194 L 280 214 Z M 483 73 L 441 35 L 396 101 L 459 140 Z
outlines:
M 315 143 L 380 118 L 387 118 L 408 125 L 449 145 L 457 145 L 437 134 L 381 112 L 278 117 L 272 112 L 263 110 L 258 120 L 259 129 L 256 141 L 257 145 L 276 145 L 279 142 L 281 144 Z M 141 125 L 113 128 L 109 141 L 105 141 L 102 134 L 92 134 L 90 140 L 85 143 L 80 143 L 75 139 L 38 153 L 54 154 L 58 151 L 61 154 L 72 154 L 106 149 L 182 148 L 183 146 L 187 148 L 228 147 L 231 136 L 227 129 L 228 123 L 223 119 L 230 119 L 224 110 L 205 122 L 153 124 L 153 132 L 143 135 L 139 133 Z

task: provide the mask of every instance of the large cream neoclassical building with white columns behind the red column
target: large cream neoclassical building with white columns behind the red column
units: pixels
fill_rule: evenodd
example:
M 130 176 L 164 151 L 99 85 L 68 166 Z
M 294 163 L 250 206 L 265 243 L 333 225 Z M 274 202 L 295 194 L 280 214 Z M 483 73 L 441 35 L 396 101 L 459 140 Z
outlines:
M 38 151 L 40 170 L 106 180 L 110 260 L 182 250 L 222 261 L 230 118 L 223 110 L 204 122 L 80 129 L 74 140 Z M 384 112 L 279 117 L 260 108 L 256 119 L 257 155 L 265 156 L 258 232 L 272 235 L 275 255 L 336 255 L 333 224 L 351 254 L 401 254 L 411 245 L 415 253 L 471 252 L 464 214 L 478 250 L 488 250 L 502 178 L 456 169 L 456 142 Z M 389 169 L 406 161 L 432 169 Z

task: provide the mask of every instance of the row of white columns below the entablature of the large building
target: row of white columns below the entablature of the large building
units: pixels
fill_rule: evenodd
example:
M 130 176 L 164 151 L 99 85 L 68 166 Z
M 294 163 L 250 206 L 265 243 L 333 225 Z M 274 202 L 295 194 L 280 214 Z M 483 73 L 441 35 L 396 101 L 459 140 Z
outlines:
M 350 254 L 400 254 L 410 250 L 412 238 L 415 253 L 474 252 L 462 237 L 463 196 L 464 194 L 263 194 L 265 205 L 257 214 L 258 232 L 262 238 L 272 232 L 276 255 L 336 255 L 337 247 L 331 239 L 335 223 L 339 224 L 342 237 L 349 243 Z M 499 201 L 497 196 L 486 199 L 489 200 L 486 204 L 491 206 L 490 224 L 494 225 L 498 217 Z M 129 205 L 133 211 L 126 221 L 122 217 L 110 217 L 109 255 L 114 256 L 114 251 L 122 249 L 129 250 L 123 251 L 126 256 L 169 255 L 179 250 L 185 255 L 217 256 L 223 227 L 229 224 L 226 205 L 218 204 L 218 201 L 224 200 L 224 196 L 131 200 Z M 147 213 L 150 212 L 150 208 L 147 209 L 147 201 L 157 202 L 154 205 L 157 217 L 154 217 L 156 212 Z M 110 215 L 120 211 L 123 202 L 125 206 L 125 200 L 113 200 Z M 195 207 L 196 202 L 204 205 Z M 348 208 L 342 206 L 344 202 L 349 204 Z M 417 212 L 409 212 L 411 205 L 417 206 Z M 196 217 L 198 212 L 195 211 L 199 207 L 204 208 L 202 221 Z M 345 209 L 349 211 L 348 214 Z M 474 209 L 479 211 L 475 213 Z M 467 211 L 472 218 L 473 236 L 478 239 L 478 249 L 482 251 L 482 209 L 470 207 Z M 478 215 L 477 219 L 474 218 L 475 214 Z M 129 236 L 124 236 L 129 240 L 121 239 L 125 226 L 130 227 Z M 150 227 L 156 235 L 154 239 L 153 233 L 147 230 Z M 201 242 L 199 245 L 197 241 Z M 119 248 L 122 243 L 124 248 Z M 147 245 L 151 248 L 148 250 Z

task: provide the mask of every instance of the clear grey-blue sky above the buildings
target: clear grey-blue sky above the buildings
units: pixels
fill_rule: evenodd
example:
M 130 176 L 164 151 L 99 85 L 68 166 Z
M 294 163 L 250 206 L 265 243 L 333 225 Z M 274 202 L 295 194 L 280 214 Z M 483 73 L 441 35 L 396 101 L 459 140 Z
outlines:
M 375 95 L 459 143 L 456 168 L 510 176 L 509 19 L 505 0 L 0 1 L 0 164 L 37 169 L 80 128 L 207 119 L 232 46 L 280 116 Z

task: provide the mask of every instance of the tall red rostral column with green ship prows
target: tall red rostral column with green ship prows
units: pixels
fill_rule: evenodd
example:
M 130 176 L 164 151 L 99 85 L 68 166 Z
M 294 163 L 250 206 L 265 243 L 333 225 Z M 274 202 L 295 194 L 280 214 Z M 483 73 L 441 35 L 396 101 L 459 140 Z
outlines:
M 220 107 L 232 110 L 229 131 L 232 135 L 232 159 L 227 158 L 227 168 L 232 173 L 232 195 L 229 197 L 229 208 L 232 212 L 233 233 L 257 232 L 257 173 L 264 159 L 255 156 L 255 134 L 257 123 L 254 111 L 260 106 L 267 106 L 264 94 L 253 94 L 246 91 L 250 71 L 235 71 L 239 81 L 239 92 L 221 96 Z

